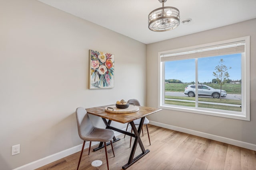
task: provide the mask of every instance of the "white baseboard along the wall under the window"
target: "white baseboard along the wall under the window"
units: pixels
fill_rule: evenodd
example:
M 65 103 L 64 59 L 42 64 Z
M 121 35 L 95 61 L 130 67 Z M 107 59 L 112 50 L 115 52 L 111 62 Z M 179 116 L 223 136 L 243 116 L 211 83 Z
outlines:
M 183 127 L 167 125 L 167 124 L 159 123 L 159 122 L 156 122 L 156 121 L 150 121 L 150 124 L 155 125 L 155 126 L 159 126 L 159 127 L 164 127 L 166 129 L 171 129 L 171 130 L 174 130 L 174 131 L 179 131 L 179 132 L 184 132 L 184 133 L 188 133 L 188 134 L 191 134 L 191 135 L 196 135 L 196 136 L 199 136 L 199 137 L 204 137 L 204 138 L 207 138 L 207 139 L 212 139 L 214 141 L 219 141 L 219 142 L 227 143 L 227 144 L 230 144 L 230 145 L 235 145 L 235 146 L 250 149 L 250 150 L 256 150 L 256 145 L 254 145 L 252 143 L 237 141 L 237 140 L 234 140 L 234 139 L 221 137 L 221 136 L 217 136 L 217 135 L 212 135 L 212 134 L 204 133 L 204 132 L 200 132 L 200 131 L 194 131 L 194 130 L 186 129 L 186 128 L 183 128 Z

